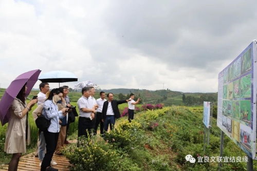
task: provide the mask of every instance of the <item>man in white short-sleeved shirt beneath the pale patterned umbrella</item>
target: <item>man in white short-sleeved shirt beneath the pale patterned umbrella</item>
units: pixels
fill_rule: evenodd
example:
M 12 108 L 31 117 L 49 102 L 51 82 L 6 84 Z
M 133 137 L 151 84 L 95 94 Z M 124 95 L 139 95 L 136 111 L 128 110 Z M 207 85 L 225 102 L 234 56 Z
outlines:
M 82 97 L 78 100 L 79 107 L 79 124 L 78 124 L 78 138 L 91 136 L 91 129 L 93 129 L 93 119 L 95 118 L 96 109 L 93 103 L 89 100 L 90 88 L 82 88 Z M 88 135 L 87 135 L 88 134 Z M 79 142 L 78 142 L 79 146 Z

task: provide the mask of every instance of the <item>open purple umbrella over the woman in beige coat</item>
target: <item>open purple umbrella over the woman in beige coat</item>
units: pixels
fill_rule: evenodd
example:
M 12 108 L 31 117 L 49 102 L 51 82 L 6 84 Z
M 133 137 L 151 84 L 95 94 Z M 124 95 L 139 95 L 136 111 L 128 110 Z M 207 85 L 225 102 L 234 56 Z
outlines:
M 27 97 L 31 89 L 35 85 L 36 81 L 38 81 L 40 72 L 41 70 L 39 69 L 25 72 L 19 75 L 14 81 L 11 82 L 0 101 L 0 120 L 2 125 L 9 122 L 10 113 L 8 109 L 11 106 L 13 100 L 16 98 L 17 94 L 22 89 L 22 87 L 27 82 Z

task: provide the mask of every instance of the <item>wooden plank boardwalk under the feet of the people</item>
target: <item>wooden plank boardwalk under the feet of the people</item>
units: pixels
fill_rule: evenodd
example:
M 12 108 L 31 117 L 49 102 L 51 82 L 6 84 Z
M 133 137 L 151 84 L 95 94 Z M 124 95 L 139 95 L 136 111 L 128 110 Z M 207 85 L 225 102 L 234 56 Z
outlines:
M 76 143 L 77 140 L 69 141 L 71 143 Z M 57 165 L 54 165 L 54 168 L 59 170 L 69 170 L 68 166 L 69 161 L 64 156 L 53 155 L 53 160 L 57 162 Z M 18 165 L 18 170 L 40 170 L 39 158 L 34 156 L 34 153 L 27 154 L 22 156 Z M 2 164 L 0 170 L 8 170 L 8 164 Z

